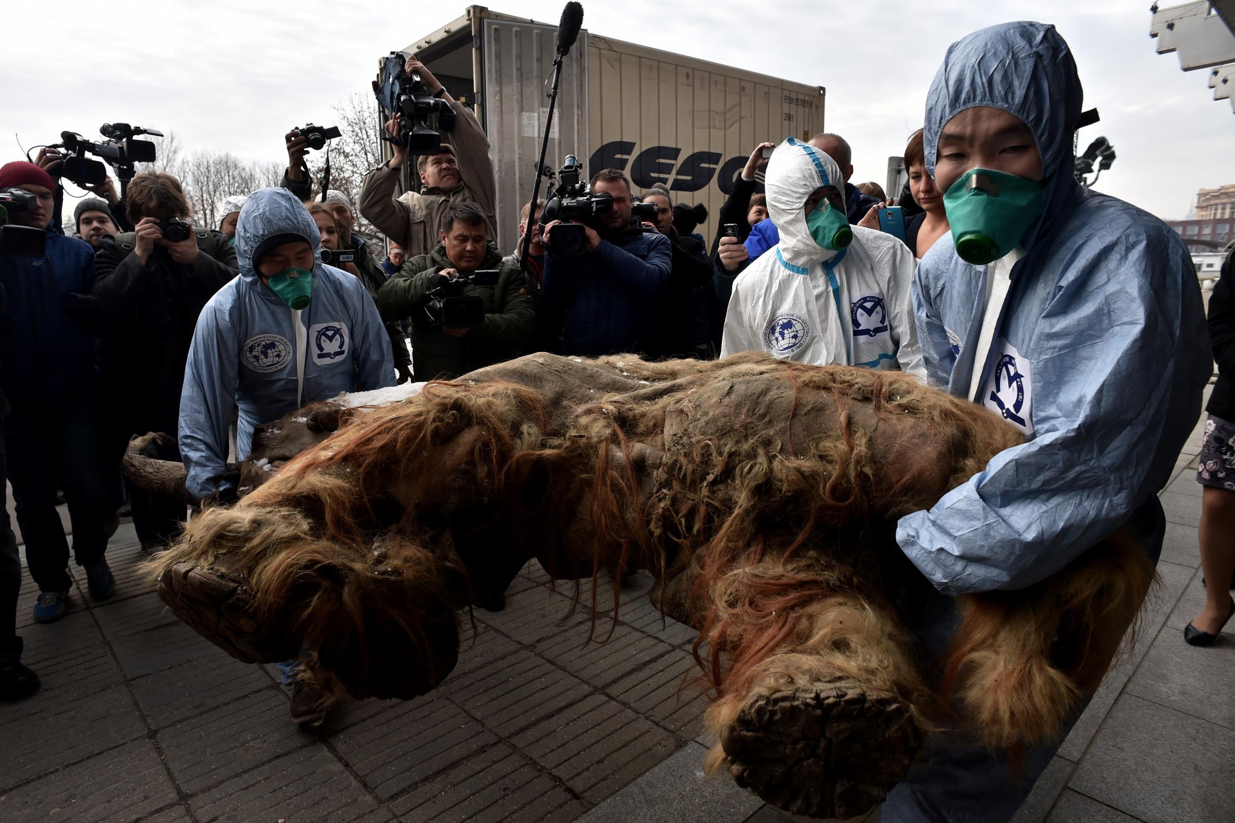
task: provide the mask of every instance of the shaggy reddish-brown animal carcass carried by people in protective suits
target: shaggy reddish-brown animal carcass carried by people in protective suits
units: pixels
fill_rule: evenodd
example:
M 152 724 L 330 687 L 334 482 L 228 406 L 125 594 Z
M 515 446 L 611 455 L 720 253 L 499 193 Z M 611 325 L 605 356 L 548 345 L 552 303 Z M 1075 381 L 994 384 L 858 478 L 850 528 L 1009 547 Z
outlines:
M 953 711 L 992 746 L 1057 735 L 1153 579 L 1113 534 L 1028 590 L 958 597 L 930 668 L 905 626 L 931 589 L 897 519 L 1020 436 L 899 373 L 535 354 L 327 408 L 337 431 L 152 563 L 182 619 L 241 660 L 308 650 L 327 690 L 410 698 L 453 668 L 459 610 L 529 560 L 645 569 L 700 632 L 710 765 L 811 817 L 882 802 Z

